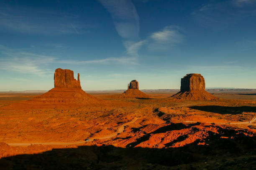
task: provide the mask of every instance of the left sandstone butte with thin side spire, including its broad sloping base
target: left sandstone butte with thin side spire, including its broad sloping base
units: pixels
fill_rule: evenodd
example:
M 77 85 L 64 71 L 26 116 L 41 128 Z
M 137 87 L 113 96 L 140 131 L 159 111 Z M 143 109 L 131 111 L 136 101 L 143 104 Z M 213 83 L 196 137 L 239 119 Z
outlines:
M 103 102 L 103 100 L 97 99 L 82 90 L 79 73 L 76 80 L 72 70 L 57 68 L 54 72 L 54 88 L 43 95 L 28 100 L 28 102 L 89 104 Z

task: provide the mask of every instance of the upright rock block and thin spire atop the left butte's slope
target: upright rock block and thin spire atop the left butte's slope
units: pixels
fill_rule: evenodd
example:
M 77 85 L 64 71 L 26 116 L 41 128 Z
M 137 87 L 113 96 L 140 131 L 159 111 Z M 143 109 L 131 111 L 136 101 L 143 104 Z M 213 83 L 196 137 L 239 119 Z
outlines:
M 79 73 L 76 80 L 74 79 L 74 72 L 72 70 L 57 68 L 54 72 L 54 87 L 81 89 Z

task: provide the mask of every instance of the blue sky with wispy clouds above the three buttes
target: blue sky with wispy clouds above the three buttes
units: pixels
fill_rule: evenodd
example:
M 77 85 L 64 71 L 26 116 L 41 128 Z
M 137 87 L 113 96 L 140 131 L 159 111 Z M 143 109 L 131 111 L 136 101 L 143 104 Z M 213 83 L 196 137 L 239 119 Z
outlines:
M 84 90 L 256 88 L 256 0 L 2 0 L 0 90 L 50 90 L 56 68 Z

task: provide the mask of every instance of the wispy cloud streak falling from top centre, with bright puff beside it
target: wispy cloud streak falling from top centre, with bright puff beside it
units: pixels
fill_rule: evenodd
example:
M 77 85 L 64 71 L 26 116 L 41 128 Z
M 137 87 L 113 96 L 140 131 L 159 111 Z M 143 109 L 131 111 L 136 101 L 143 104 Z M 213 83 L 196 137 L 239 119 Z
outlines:
M 177 26 L 166 26 L 164 29 L 152 33 L 145 40 L 141 40 L 139 33 L 139 16 L 136 7 L 131 0 L 99 0 L 99 2 L 111 14 L 115 29 L 118 35 L 123 38 L 123 45 L 126 54 L 139 57 L 138 50 L 143 45 L 148 46 L 148 50 L 165 50 L 170 46 L 177 45 L 183 40 Z

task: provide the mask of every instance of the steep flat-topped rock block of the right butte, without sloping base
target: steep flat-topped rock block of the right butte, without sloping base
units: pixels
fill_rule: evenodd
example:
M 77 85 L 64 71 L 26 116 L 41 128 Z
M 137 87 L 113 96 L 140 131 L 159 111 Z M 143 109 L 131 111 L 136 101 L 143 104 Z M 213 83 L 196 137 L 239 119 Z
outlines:
M 181 79 L 180 91 L 205 91 L 205 79 L 201 74 L 187 74 Z

